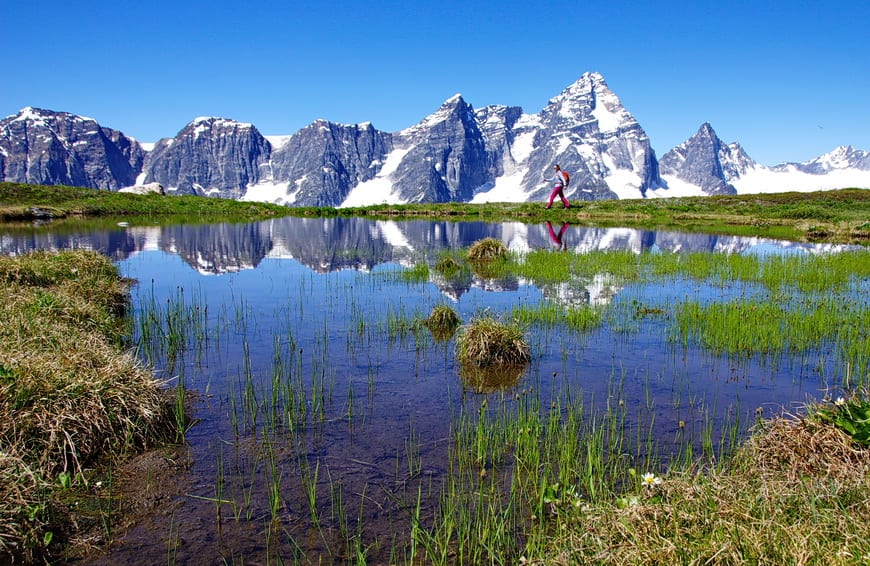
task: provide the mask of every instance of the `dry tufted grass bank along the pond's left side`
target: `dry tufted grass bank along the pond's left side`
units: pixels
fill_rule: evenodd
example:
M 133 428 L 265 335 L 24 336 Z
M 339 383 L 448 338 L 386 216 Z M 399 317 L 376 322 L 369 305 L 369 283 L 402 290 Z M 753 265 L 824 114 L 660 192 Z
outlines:
M 171 400 L 122 351 L 126 301 L 97 253 L 0 257 L 0 559 L 47 552 L 63 522 L 53 488 L 172 438 Z

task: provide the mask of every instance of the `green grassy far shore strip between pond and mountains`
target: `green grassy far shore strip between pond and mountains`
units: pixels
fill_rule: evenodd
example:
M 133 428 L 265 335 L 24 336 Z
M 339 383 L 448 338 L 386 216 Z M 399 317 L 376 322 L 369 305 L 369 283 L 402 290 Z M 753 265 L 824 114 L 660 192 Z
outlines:
M 134 223 L 145 219 L 164 223 L 250 221 L 280 216 L 523 223 L 560 220 L 585 226 L 870 245 L 870 189 L 575 201 L 568 210 L 545 210 L 541 203 L 291 208 L 195 196 L 133 195 L 74 187 L 0 183 L 0 222 L 109 216 L 134 217 L 131 219 Z

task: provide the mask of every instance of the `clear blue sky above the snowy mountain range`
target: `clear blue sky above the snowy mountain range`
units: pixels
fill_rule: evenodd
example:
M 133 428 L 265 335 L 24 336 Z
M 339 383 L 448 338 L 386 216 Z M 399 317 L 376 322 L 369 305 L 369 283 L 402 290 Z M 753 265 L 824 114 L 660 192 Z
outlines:
M 197 116 L 411 126 L 450 96 L 540 111 L 598 71 L 661 156 L 710 122 L 765 165 L 870 150 L 870 2 L 6 0 L 0 116 L 140 141 Z

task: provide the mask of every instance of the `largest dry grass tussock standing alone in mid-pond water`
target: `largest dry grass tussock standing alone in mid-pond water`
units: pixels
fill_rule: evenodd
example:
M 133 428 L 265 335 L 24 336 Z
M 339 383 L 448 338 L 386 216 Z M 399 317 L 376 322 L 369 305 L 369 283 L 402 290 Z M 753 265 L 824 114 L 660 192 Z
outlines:
M 460 328 L 456 348 L 460 363 L 478 368 L 526 364 L 532 358 L 522 330 L 491 317 L 477 318 Z

